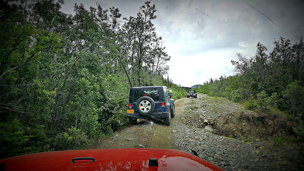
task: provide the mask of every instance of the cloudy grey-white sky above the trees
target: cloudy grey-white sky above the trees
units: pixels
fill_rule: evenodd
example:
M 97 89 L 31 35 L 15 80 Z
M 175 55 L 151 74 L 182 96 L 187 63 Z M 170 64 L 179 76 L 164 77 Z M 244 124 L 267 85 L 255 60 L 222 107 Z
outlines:
M 157 8 L 152 23 L 171 56 L 169 77 L 174 83 L 190 87 L 233 75 L 230 61 L 237 60 L 237 52 L 254 55 L 257 42 L 271 51 L 274 38 L 282 36 L 294 43 L 304 36 L 304 1 L 244 1 L 152 0 Z M 74 3 L 96 7 L 94 0 L 66 0 L 62 11 L 74 14 Z M 98 3 L 104 9 L 119 8 L 128 17 L 136 16 L 144 0 Z

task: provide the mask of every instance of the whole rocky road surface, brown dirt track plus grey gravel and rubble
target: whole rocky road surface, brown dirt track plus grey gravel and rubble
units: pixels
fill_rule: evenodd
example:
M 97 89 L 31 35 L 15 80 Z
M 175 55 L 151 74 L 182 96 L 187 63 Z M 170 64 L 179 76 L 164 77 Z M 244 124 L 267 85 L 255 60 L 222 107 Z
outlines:
M 163 120 L 140 120 L 137 125 L 123 128 L 111 137 L 100 140 L 92 148 L 167 148 L 184 152 L 191 152 L 193 149 L 202 159 L 225 170 L 304 169 L 304 165 L 294 155 L 299 152 L 300 146 L 282 145 L 281 148 L 281 145 L 275 146 L 271 141 L 262 138 L 260 140 L 260 137 L 254 137 L 255 142 L 246 144 L 204 132 L 207 131 L 205 126 L 214 128 L 211 129 L 213 133 L 223 132 L 221 135 L 225 135 L 225 130 L 227 130 L 226 134 L 231 132 L 249 134 L 248 130 L 252 129 L 255 130 L 252 136 L 258 136 L 257 133 L 263 132 L 263 128 L 258 129 L 261 127 L 259 123 L 254 122 L 250 125 L 244 120 L 238 123 L 241 117 L 234 115 L 252 113 L 243 109 L 238 103 L 199 94 L 197 99 L 176 100 L 175 110 L 176 114 L 171 119 L 170 126 L 165 125 Z M 214 120 L 214 126 L 203 123 L 204 120 L 210 119 L 209 117 L 211 117 L 210 121 Z

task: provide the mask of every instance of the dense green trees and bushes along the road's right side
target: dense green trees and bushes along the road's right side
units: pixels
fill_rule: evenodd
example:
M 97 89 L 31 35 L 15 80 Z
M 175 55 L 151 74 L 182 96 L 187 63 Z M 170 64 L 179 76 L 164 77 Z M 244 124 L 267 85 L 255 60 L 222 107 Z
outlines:
M 211 96 L 242 102 L 250 110 L 271 112 L 278 108 L 292 118 L 299 116 L 299 127 L 294 131 L 303 138 L 303 39 L 292 45 L 290 40 L 281 37 L 275 40 L 274 45 L 269 54 L 266 54 L 267 48 L 261 43 L 257 44 L 257 52 L 250 58 L 237 53 L 238 61 L 231 61 L 236 75 L 221 76 L 212 82 L 210 79 L 196 89 Z

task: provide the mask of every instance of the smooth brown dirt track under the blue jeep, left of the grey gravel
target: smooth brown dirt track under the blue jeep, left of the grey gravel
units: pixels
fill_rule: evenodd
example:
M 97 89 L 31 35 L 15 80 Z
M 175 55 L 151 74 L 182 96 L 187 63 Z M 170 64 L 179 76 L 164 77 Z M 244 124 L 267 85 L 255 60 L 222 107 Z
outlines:
M 175 149 L 173 130 L 181 123 L 181 109 L 191 99 L 182 98 L 175 101 L 175 117 L 171 124 L 165 125 L 161 119 L 140 120 L 137 125 L 116 131 L 109 138 L 99 140 L 92 148 L 167 148 Z

